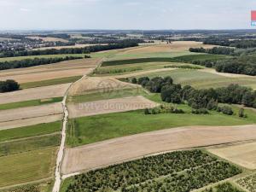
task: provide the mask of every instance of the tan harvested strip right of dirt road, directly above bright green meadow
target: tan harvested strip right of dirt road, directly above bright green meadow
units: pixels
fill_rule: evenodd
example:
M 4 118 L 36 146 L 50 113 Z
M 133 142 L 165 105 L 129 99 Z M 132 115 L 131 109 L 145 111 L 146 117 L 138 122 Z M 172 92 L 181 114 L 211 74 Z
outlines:
M 85 117 L 105 113 L 119 113 L 143 108 L 154 108 L 157 103 L 151 102 L 143 96 L 131 96 L 118 99 L 84 102 L 68 105 L 69 117 Z

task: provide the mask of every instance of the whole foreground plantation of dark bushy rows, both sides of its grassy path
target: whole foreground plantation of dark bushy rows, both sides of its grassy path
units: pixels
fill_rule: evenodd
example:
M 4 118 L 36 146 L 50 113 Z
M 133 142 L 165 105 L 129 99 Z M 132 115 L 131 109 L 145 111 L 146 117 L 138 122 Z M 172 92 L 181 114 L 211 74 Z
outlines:
M 66 191 L 166 191 L 161 190 L 165 186 L 166 189 L 182 192 L 240 172 L 235 166 L 218 161 L 200 150 L 179 151 L 84 173 L 74 177 Z

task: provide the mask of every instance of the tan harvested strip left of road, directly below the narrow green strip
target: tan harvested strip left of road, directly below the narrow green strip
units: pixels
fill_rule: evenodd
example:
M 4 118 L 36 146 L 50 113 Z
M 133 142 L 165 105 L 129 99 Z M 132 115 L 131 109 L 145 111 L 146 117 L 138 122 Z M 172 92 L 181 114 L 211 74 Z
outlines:
M 30 119 L 43 116 L 46 119 L 47 117 L 45 116 L 60 113 L 63 113 L 61 102 L 29 108 L 15 108 L 0 111 L 0 122 Z

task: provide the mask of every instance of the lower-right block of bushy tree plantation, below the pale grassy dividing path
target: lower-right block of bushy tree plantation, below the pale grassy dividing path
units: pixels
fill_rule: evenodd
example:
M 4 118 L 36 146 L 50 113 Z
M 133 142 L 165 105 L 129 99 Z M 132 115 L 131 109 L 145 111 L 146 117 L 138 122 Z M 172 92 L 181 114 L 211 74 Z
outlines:
M 215 161 L 208 165 L 190 168 L 184 172 L 174 173 L 164 179 L 152 180 L 140 185 L 133 185 L 123 188 L 122 192 L 143 192 L 143 191 L 178 191 L 188 192 L 200 189 L 210 183 L 217 183 L 228 177 L 241 173 L 236 166 L 230 166 L 223 161 Z M 230 192 L 230 191 L 229 191 Z

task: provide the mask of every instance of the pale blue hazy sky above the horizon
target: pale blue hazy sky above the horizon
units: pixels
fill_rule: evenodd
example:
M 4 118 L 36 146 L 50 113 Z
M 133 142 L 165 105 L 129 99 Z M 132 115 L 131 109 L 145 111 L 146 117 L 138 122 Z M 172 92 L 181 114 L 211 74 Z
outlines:
M 0 30 L 250 29 L 255 0 L 0 0 Z

